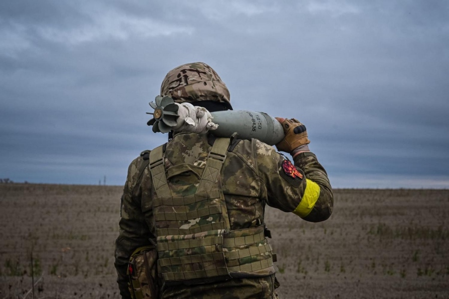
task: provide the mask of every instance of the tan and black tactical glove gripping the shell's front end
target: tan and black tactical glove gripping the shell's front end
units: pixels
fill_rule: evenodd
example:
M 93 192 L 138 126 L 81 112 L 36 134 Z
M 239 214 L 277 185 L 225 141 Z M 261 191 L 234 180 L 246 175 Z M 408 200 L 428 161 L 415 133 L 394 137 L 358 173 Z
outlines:
M 280 117 L 276 117 L 276 119 L 282 124 L 285 134 L 284 139 L 276 144 L 278 151 L 291 154 L 298 147 L 310 143 L 310 140 L 307 138 L 306 127 L 298 120 L 294 118 L 285 119 Z M 305 147 L 307 147 L 307 149 L 305 149 Z M 304 150 L 308 151 L 308 146 L 304 146 Z

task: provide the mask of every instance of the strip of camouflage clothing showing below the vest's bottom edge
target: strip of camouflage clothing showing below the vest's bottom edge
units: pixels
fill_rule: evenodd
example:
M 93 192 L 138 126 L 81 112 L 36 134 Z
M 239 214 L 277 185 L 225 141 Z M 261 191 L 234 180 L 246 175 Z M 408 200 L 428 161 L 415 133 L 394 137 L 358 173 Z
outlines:
M 276 283 L 274 275 L 271 275 L 195 286 L 163 287 L 161 299 L 278 299 L 274 291 Z

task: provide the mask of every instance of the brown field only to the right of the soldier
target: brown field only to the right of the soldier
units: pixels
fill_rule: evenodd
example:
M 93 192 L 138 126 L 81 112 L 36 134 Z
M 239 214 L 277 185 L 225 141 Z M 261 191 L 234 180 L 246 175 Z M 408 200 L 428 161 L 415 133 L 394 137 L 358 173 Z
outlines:
M 449 298 L 448 190 L 335 190 L 334 214 L 266 222 L 284 298 Z

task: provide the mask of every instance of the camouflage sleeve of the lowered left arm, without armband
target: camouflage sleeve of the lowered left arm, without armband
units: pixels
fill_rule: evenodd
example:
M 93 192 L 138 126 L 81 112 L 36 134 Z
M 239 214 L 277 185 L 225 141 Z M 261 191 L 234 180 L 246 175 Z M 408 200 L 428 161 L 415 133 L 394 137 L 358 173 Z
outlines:
M 131 254 L 141 246 L 149 245 L 150 230 L 141 210 L 142 192 L 139 184 L 139 164 L 142 158 L 135 159 L 128 168 L 128 177 L 123 189 L 120 209 L 119 236 L 115 241 L 115 268 L 117 283 L 122 298 L 131 298 L 126 274 Z

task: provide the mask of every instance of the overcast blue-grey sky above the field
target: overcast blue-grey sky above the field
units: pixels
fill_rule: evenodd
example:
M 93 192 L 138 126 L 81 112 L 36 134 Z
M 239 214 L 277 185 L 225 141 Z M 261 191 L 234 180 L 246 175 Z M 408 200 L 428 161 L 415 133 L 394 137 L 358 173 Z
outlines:
M 123 185 L 166 73 L 295 117 L 337 188 L 449 188 L 449 1 L 1 1 L 0 178 Z

